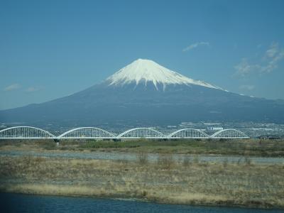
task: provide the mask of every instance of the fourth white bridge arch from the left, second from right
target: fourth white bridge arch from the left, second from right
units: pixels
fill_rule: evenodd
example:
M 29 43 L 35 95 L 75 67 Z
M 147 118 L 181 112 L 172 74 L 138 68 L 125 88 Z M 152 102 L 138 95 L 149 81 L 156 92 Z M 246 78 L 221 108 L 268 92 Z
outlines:
M 209 138 L 207 133 L 200 129 L 179 129 L 170 133 L 169 138 Z

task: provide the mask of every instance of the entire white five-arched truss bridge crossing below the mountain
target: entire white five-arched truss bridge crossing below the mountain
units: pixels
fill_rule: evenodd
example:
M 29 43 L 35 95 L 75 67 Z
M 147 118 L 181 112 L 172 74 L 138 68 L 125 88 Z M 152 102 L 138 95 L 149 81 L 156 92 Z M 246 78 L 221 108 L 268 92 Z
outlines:
M 114 135 L 104 129 L 96 127 L 80 127 L 71 129 L 62 133 L 60 136 L 55 136 L 52 133 L 43 129 L 32 126 L 14 126 L 0 131 L 0 139 L 136 139 L 136 138 L 150 138 L 150 139 L 179 139 L 179 138 L 249 138 L 245 133 L 236 129 L 223 129 L 217 131 L 212 136 L 207 135 L 200 129 L 180 129 L 168 135 L 161 133 L 152 128 L 135 128 L 129 129 Z

